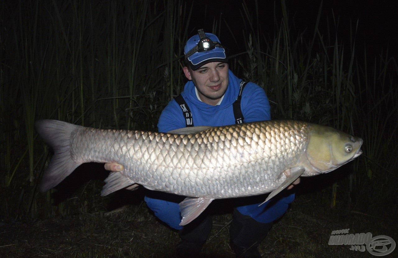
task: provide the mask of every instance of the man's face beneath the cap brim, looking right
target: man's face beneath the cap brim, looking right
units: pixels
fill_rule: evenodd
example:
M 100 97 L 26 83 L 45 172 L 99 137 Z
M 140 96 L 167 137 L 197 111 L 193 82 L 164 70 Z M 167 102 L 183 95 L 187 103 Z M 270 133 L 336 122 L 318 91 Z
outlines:
M 183 71 L 195 84 L 200 99 L 209 105 L 216 105 L 228 87 L 227 63 L 211 62 L 195 71 L 185 66 Z

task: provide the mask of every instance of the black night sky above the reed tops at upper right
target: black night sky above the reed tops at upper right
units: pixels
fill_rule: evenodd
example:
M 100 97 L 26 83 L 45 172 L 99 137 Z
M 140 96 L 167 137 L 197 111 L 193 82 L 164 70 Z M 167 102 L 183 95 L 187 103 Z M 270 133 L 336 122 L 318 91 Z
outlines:
M 240 19 L 237 17 L 241 16 L 242 12 L 242 1 L 231 0 L 231 1 L 193 1 L 193 15 L 191 19 L 192 31 L 197 28 L 204 27 L 209 30 L 213 26 L 213 20 L 225 19 L 228 25 L 236 32 L 236 38 L 238 39 L 242 35 L 244 30 L 244 24 L 240 23 Z M 247 1 L 249 10 L 253 10 L 253 17 L 256 1 Z M 259 21 L 261 25 L 261 31 L 264 34 L 273 33 L 274 26 L 274 4 L 276 7 L 276 21 L 280 22 L 282 17 L 280 2 L 262 0 L 257 1 L 259 8 Z M 295 26 L 294 30 L 297 33 L 304 32 L 308 38 L 311 38 L 314 31 L 314 24 L 319 11 L 321 1 L 317 0 L 288 0 L 286 1 L 287 11 L 289 13 L 290 26 Z M 397 39 L 398 39 L 398 18 L 397 9 L 395 8 L 394 1 L 377 1 L 377 0 L 363 0 L 363 1 L 336 1 L 326 0 L 322 4 L 322 14 L 320 18 L 320 30 L 326 29 L 326 16 L 328 17 L 333 31 L 335 26 L 332 21 L 333 17 L 336 19 L 338 24 L 338 38 L 340 40 L 347 41 L 350 37 L 350 27 L 355 33 L 357 21 L 358 27 L 356 32 L 356 46 L 359 52 L 357 55 L 363 54 L 363 49 L 366 45 L 367 55 L 373 58 L 375 55 L 380 54 L 380 50 L 383 48 L 384 51 L 388 47 L 391 56 L 396 56 L 397 51 Z M 204 12 L 203 10 L 206 10 Z M 294 23 L 292 22 L 294 20 Z M 233 39 L 229 39 L 229 33 L 222 33 L 222 30 L 226 29 L 224 23 L 221 25 L 220 41 L 225 44 L 228 42 L 228 48 L 231 52 L 244 50 L 244 45 L 236 43 Z M 321 34 L 326 31 L 321 31 Z M 230 44 L 230 42 L 235 44 Z

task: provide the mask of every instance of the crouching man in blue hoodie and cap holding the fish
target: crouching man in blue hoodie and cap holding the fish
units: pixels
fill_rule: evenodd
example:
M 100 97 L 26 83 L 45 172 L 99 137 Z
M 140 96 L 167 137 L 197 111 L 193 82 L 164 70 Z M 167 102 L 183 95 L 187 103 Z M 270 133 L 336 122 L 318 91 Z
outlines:
M 224 126 L 270 120 L 270 106 L 264 90 L 254 83 L 242 83 L 228 69 L 225 49 L 216 35 L 205 34 L 203 30 L 198 32 L 184 48 L 183 72 L 189 81 L 184 91 L 162 111 L 159 132 L 185 126 Z M 105 164 L 105 168 L 117 171 L 115 165 Z M 290 175 L 290 171 L 285 173 Z M 156 191 L 148 191 L 145 196 L 147 206 L 155 215 L 179 230 L 181 242 L 176 248 L 177 256 L 196 257 L 209 236 L 212 218 L 203 213 L 191 223 L 180 226 L 178 204 L 183 199 L 184 196 Z M 245 205 L 234 208 L 230 244 L 237 257 L 261 257 L 258 245 L 267 235 L 272 222 L 285 213 L 294 200 L 294 193 L 279 194 L 258 206 L 264 199 L 253 203 L 250 198 L 245 198 Z

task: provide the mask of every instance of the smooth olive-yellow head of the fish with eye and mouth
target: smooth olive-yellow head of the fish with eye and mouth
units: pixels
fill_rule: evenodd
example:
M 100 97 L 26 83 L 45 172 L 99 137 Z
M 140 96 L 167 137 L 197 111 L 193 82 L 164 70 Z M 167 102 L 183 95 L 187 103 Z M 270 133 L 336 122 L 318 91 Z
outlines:
M 362 154 L 363 140 L 332 127 L 312 124 L 305 149 L 307 165 L 303 176 L 328 173 Z

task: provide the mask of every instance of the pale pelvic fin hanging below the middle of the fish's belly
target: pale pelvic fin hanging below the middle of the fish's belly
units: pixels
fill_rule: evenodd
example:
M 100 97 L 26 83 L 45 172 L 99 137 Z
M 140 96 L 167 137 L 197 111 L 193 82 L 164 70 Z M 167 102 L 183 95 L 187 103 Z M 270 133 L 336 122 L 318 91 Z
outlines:
M 189 222 L 197 218 L 214 199 L 205 198 L 185 198 L 179 203 L 179 210 L 181 211 L 181 223 L 179 225 L 187 225 Z

